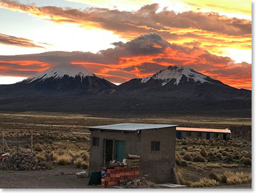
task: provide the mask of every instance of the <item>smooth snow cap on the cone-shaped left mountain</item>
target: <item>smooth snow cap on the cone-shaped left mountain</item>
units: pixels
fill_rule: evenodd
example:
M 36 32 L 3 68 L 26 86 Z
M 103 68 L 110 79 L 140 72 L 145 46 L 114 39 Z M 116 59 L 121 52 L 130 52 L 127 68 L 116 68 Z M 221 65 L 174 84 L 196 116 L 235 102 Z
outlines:
M 70 63 L 60 63 L 53 67 L 50 67 L 47 70 L 38 72 L 33 77 L 26 79 L 26 82 L 33 82 L 34 80 L 40 79 L 40 81 L 53 77 L 53 79 L 60 79 L 67 75 L 69 77 L 80 76 L 81 78 L 92 76 L 98 77 L 95 74 L 89 72 L 85 67 L 79 64 L 70 64 Z M 102 79 L 102 77 L 98 77 Z

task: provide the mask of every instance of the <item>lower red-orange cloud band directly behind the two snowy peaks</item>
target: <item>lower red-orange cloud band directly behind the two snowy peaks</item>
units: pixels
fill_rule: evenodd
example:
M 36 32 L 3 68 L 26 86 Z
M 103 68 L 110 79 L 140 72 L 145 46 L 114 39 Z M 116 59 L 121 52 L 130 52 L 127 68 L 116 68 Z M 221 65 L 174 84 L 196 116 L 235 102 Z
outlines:
M 0 75 L 33 75 L 56 63 L 70 62 L 82 64 L 111 82 L 122 83 L 137 77 L 147 77 L 169 65 L 187 65 L 233 87 L 252 87 L 251 63 L 235 63 L 229 57 L 220 57 L 198 47 L 170 44 L 156 33 L 113 45 L 114 48 L 99 53 L 46 52 L 0 56 Z

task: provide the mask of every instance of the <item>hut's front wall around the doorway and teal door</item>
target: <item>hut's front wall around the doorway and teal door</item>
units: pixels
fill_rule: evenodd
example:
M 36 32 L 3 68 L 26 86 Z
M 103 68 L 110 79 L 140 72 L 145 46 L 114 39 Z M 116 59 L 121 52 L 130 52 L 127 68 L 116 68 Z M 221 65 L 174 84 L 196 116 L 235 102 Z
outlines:
M 92 138 L 99 138 L 99 146 L 92 146 Z M 90 147 L 90 162 L 89 171 L 100 171 L 103 167 L 103 153 L 105 140 L 123 140 L 125 141 L 125 157 L 127 154 L 140 155 L 140 133 L 136 132 L 121 132 L 121 131 L 98 131 L 91 130 L 91 147 Z

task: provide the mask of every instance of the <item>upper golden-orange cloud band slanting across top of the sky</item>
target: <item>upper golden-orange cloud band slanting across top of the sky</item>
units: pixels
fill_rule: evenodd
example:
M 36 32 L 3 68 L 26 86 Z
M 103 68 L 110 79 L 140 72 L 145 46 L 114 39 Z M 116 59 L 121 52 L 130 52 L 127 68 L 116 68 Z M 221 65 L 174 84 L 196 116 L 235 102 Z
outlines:
M 209 2 L 203 1 L 196 1 L 195 6 L 199 2 L 209 7 Z M 222 6 L 225 7 L 223 4 L 213 7 Z M 230 6 L 235 10 L 233 3 Z M 81 11 L 55 6 L 36 7 L 9 0 L 1 0 L 0 7 L 33 14 L 56 23 L 76 23 L 82 28 L 113 31 L 128 40 L 145 33 L 159 33 L 169 42 L 191 47 L 197 41 L 200 42 L 197 43 L 198 47 L 214 54 L 223 54 L 225 48 L 250 50 L 252 47 L 252 21 L 228 18 L 213 12 L 175 13 L 167 9 L 159 10 L 159 4 L 145 5 L 138 11 L 106 8 L 87 8 Z M 240 8 L 237 4 L 235 7 Z M 247 8 L 245 10 L 248 12 Z

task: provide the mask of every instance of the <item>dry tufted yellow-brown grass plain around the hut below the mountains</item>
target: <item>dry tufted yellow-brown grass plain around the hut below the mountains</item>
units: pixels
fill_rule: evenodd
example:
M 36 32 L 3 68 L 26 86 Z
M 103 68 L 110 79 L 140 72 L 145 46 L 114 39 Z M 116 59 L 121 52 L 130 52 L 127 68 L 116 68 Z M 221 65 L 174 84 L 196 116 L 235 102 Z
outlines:
M 31 152 L 31 133 L 33 133 L 32 149 L 36 158 L 49 162 L 53 166 L 53 170 L 62 167 L 60 165 L 82 169 L 89 165 L 90 138 L 89 135 L 74 135 L 70 132 L 89 132 L 85 129 L 86 126 L 127 122 L 178 124 L 179 126 L 208 128 L 252 125 L 250 117 L 229 116 L 228 113 L 225 116 L 216 114 L 206 116 L 203 113 L 187 115 L 186 113 L 3 112 L 0 113 L 0 137 L 2 138 L 2 131 L 4 131 L 4 148 L 10 153 L 17 151 L 17 144 L 19 152 Z M 17 138 L 17 133 L 19 138 Z M 2 148 L 0 145 L 0 151 Z M 203 155 L 201 155 L 202 148 L 205 151 Z M 198 157 L 195 158 L 198 155 L 203 157 L 204 161 L 199 162 Z M 177 140 L 177 171 L 182 184 L 189 187 L 250 183 L 251 158 L 251 145 L 245 141 Z M 250 163 L 245 162 L 245 159 L 247 161 L 250 159 Z M 215 177 L 209 176 L 210 174 Z M 224 175 L 226 177 L 223 177 Z M 247 181 L 239 181 L 239 177 L 231 179 L 230 175 L 240 176 L 240 178 L 245 178 L 246 175 Z M 59 186 L 61 185 L 56 187 Z

